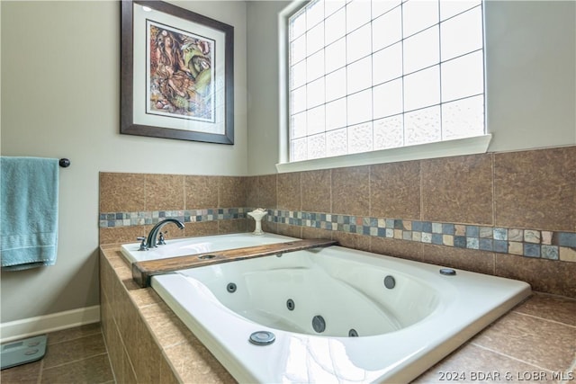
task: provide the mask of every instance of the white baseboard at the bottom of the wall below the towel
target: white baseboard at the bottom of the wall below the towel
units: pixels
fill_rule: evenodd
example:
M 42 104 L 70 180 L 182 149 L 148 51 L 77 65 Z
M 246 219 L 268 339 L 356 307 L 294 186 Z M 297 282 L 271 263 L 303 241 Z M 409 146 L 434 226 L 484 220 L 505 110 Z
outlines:
M 44 316 L 23 318 L 22 320 L 0 324 L 0 343 L 47 334 L 60 329 L 84 326 L 99 321 L 100 306 L 77 308 Z

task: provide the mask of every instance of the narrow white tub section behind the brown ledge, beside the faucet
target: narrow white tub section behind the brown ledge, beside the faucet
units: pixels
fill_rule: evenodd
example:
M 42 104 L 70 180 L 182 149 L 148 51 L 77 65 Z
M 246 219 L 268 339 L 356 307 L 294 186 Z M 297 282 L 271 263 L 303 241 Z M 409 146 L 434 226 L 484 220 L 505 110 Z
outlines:
M 121 246 L 121 253 L 130 263 L 147 260 L 166 259 L 167 257 L 204 254 L 206 252 L 224 251 L 227 249 L 244 248 L 246 246 L 264 246 L 266 244 L 285 243 L 293 241 L 293 237 L 285 237 L 266 233 L 255 236 L 250 233 L 231 235 L 215 235 L 207 237 L 188 237 L 166 240 L 166 246 L 157 246 L 148 251 L 139 251 L 139 243 Z

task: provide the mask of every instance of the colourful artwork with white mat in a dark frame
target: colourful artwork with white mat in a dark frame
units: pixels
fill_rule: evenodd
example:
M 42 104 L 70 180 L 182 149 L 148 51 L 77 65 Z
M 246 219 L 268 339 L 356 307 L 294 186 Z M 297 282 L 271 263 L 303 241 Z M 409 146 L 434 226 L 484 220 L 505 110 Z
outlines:
M 234 144 L 234 27 L 121 1 L 123 134 Z

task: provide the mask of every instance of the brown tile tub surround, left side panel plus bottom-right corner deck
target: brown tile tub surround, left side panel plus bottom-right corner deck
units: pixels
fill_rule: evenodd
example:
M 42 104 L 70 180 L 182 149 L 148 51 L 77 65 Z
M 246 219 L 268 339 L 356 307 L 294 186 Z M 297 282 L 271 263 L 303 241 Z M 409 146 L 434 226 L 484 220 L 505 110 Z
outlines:
M 119 245 L 101 246 L 100 268 L 103 335 L 117 382 L 235 382 L 154 290 L 137 289 Z M 467 381 L 494 371 L 568 378 L 576 367 L 575 311 L 574 299 L 535 294 L 416 382 L 439 382 L 447 371 Z

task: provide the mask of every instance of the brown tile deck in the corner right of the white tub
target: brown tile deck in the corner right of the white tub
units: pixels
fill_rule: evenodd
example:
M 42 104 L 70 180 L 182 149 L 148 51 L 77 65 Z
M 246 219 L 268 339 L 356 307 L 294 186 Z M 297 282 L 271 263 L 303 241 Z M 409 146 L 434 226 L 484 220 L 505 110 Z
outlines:
M 576 299 L 535 294 L 412 384 L 576 384 Z

